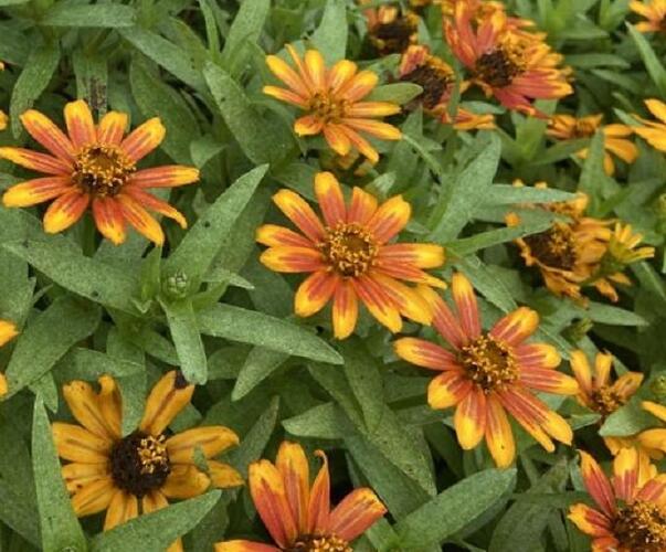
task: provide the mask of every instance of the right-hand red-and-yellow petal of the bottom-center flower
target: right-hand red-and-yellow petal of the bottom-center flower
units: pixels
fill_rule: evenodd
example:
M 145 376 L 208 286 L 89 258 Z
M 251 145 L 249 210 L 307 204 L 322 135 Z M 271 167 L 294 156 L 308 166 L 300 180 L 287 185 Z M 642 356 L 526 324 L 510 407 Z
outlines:
M 384 505 L 371 489 L 355 489 L 330 512 L 330 532 L 351 542 L 384 513 Z

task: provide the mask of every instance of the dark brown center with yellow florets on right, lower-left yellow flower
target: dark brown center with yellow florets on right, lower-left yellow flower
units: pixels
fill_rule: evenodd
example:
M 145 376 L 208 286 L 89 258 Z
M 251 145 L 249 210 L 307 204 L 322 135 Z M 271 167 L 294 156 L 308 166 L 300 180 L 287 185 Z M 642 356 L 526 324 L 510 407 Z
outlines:
M 134 432 L 116 443 L 110 453 L 116 487 L 139 498 L 160 488 L 171 471 L 165 440 L 163 435 Z

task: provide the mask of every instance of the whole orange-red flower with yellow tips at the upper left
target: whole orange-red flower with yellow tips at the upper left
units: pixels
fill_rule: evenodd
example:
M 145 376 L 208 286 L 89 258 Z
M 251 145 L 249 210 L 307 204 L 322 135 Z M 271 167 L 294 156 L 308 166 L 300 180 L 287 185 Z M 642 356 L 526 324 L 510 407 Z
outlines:
M 2 197 L 4 206 L 31 206 L 54 200 L 44 214 L 44 230 L 49 233 L 70 227 L 91 206 L 97 229 L 114 244 L 125 241 L 126 223 L 156 244 L 163 243 L 161 226 L 146 209 L 187 226 L 182 214 L 146 189 L 190 184 L 199 180 L 199 171 L 181 166 L 137 170 L 137 163 L 165 137 L 158 118 L 144 123 L 123 139 L 127 115 L 109 112 L 95 126 L 91 108 L 80 99 L 65 106 L 68 137 L 34 109 L 25 112 L 21 121 L 51 155 L 0 148 L 1 158 L 46 174 L 11 187 Z

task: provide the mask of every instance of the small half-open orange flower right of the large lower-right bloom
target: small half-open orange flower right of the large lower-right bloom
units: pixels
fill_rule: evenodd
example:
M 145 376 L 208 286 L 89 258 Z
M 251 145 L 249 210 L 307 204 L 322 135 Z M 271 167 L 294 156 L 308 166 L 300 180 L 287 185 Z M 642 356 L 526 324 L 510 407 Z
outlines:
M 585 353 L 581 350 L 571 353 L 570 362 L 581 390 L 578 401 L 601 414 L 602 420 L 624 406 L 643 382 L 642 373 L 627 372 L 611 384 L 613 355 L 610 353 L 596 353 L 594 373 Z

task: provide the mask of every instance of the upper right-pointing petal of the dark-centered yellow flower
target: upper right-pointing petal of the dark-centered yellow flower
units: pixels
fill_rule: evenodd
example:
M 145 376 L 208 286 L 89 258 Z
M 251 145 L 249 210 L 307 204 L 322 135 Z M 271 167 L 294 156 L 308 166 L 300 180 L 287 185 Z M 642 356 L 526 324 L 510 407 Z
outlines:
M 187 429 L 169 437 L 167 452 L 169 460 L 173 464 L 192 464 L 197 448 L 201 449 L 207 458 L 212 458 L 237 444 L 239 436 L 229 427 L 209 425 Z

